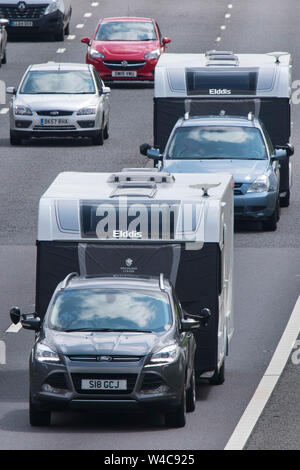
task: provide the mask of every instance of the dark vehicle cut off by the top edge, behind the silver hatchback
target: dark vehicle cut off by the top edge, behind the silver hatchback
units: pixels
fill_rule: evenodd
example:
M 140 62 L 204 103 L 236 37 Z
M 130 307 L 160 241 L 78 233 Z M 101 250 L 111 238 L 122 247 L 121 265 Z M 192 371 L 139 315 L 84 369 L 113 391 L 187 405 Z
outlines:
M 0 1 L 0 18 L 9 20 L 9 34 L 47 34 L 63 41 L 69 34 L 71 15 L 72 0 Z

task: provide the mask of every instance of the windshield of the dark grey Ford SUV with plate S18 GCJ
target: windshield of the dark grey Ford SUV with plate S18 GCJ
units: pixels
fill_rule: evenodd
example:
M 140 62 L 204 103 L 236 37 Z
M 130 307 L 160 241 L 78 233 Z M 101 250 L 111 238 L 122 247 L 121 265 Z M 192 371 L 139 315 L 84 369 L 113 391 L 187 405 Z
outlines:
M 74 289 L 59 293 L 49 326 L 59 331 L 167 331 L 172 312 L 166 293 Z

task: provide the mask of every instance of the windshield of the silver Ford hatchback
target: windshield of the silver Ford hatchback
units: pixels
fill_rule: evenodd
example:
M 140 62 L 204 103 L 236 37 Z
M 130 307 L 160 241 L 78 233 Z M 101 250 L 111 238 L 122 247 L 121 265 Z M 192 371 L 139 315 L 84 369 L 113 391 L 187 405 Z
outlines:
M 32 71 L 20 90 L 22 94 L 94 94 L 95 85 L 88 70 Z

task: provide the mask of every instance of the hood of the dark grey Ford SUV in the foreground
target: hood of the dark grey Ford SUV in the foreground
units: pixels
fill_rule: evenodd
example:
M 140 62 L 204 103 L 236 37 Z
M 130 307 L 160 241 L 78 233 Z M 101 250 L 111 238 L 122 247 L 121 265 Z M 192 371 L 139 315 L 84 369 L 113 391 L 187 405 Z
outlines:
M 69 355 L 133 355 L 149 354 L 161 341 L 153 333 L 72 332 L 52 333 L 58 352 Z

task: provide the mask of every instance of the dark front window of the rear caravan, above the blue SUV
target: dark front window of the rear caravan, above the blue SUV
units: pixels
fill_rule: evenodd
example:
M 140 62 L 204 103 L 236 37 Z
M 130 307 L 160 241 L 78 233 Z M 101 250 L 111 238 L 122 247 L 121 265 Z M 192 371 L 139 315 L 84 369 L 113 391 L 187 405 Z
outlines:
M 255 95 L 258 71 L 249 69 L 187 69 L 188 95 Z

